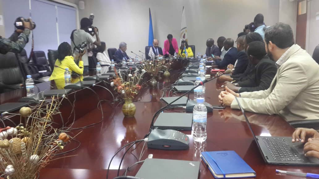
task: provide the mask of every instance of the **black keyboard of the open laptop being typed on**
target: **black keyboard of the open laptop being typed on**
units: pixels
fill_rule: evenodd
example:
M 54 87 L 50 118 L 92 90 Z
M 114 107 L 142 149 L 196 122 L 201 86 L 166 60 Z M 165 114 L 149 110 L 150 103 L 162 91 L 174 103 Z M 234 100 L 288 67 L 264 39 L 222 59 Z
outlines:
M 296 161 L 302 162 L 302 159 L 295 153 L 289 150 L 289 143 L 284 138 L 267 138 L 262 137 L 268 151 L 270 152 L 273 160 L 284 161 Z

